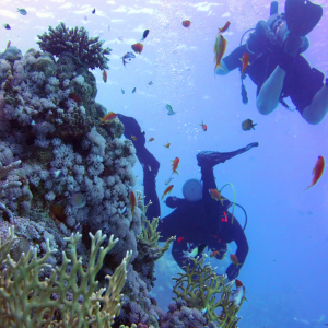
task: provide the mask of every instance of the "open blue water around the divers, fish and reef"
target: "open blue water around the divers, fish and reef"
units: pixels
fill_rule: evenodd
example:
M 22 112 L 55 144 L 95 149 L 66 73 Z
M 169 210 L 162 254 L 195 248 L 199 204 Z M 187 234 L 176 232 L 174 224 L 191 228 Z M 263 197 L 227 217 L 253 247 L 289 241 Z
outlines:
M 283 1 L 280 8 L 283 9 Z M 327 10 L 327 2 L 317 1 Z M 2 5 L 3 4 L 3 5 Z M 318 184 L 311 184 L 318 155 L 328 159 L 328 118 L 318 126 L 308 125 L 297 112 L 279 106 L 269 116 L 256 109 L 256 89 L 250 79 L 245 84 L 249 103 L 241 101 L 239 72 L 214 77 L 213 43 L 218 27 L 230 20 L 226 33 L 231 52 L 239 44 L 243 32 L 254 27 L 269 14 L 269 1 L 1 1 L 0 47 L 10 39 L 24 54 L 36 45 L 37 34 L 48 25 L 63 21 L 68 27 L 85 26 L 90 36 L 101 35 L 104 46 L 113 48 L 108 81 L 102 72 L 97 79 L 96 101 L 108 110 L 133 116 L 145 130 L 149 150 L 161 163 L 157 192 L 171 174 L 171 160 L 179 156 L 179 175 L 173 180 L 173 195 L 181 197 L 181 187 L 189 178 L 200 178 L 196 154 L 200 150 L 233 151 L 250 142 L 259 148 L 234 157 L 215 168 L 218 187 L 232 183 L 236 201 L 248 213 L 246 235 L 249 254 L 239 279 L 247 289 L 239 314 L 242 328 L 319 327 L 312 320 L 325 315 L 328 323 L 328 183 L 327 173 Z M 25 8 L 27 15 L 16 13 Z M 96 8 L 96 13 L 91 10 Z M 191 20 L 190 28 L 181 21 Z M 145 28 L 150 34 L 141 55 L 127 68 L 120 57 L 139 42 Z M 314 66 L 328 70 L 328 14 L 309 34 L 311 48 L 305 52 Z M 153 81 L 153 85 L 149 85 Z M 132 89 L 137 87 L 134 94 Z M 121 89 L 126 91 L 121 94 Z M 290 105 L 292 103 L 288 101 Z M 167 115 L 165 105 L 177 112 Z M 245 119 L 257 124 L 256 130 L 243 131 Z M 204 132 L 199 126 L 208 125 Z M 171 142 L 171 149 L 164 143 Z M 142 189 L 142 171 L 136 165 L 137 189 Z M 231 198 L 232 194 L 226 192 Z M 169 213 L 164 202 L 162 216 Z M 236 211 L 244 222 L 244 215 Z M 234 251 L 235 246 L 230 246 Z M 216 262 L 223 273 L 229 261 Z M 171 254 L 156 266 L 153 294 L 163 309 L 172 294 L 172 277 L 178 268 Z

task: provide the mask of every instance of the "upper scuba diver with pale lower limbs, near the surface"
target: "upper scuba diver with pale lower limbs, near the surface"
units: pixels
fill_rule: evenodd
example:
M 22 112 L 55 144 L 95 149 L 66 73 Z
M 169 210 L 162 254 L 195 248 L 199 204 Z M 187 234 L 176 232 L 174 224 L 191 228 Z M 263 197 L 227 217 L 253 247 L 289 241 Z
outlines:
M 308 46 L 306 35 L 317 25 L 323 16 L 323 7 L 304 0 L 286 0 L 285 13 L 278 13 L 278 2 L 271 3 L 270 17 L 259 21 L 246 44 L 221 60 L 215 73 L 225 75 L 239 68 L 244 54 L 249 57 L 249 66 L 242 74 L 243 103 L 248 103 L 243 80 L 246 74 L 257 85 L 257 108 L 268 115 L 279 103 L 291 97 L 304 119 L 319 124 L 328 112 L 328 79 L 316 68 L 312 68 L 301 55 Z

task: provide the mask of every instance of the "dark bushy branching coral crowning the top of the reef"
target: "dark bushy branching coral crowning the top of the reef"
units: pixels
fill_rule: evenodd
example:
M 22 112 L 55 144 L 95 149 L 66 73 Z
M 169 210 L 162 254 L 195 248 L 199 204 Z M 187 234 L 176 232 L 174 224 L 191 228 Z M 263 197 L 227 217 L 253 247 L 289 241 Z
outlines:
M 110 55 L 112 49 L 102 46 L 104 40 L 99 37 L 89 37 L 87 31 L 84 27 L 68 28 L 65 23 L 60 23 L 55 30 L 49 26 L 49 34 L 46 32 L 38 35 L 40 39 L 37 42 L 40 49 L 48 51 L 55 56 L 60 56 L 68 51 L 78 57 L 81 62 L 87 65 L 89 68 L 108 69 L 108 58 L 105 55 Z

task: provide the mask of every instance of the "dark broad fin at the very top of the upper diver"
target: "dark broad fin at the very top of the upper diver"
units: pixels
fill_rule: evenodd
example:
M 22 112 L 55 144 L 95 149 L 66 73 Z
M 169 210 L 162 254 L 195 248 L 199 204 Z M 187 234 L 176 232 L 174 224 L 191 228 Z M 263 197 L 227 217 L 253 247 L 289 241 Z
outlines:
M 304 0 L 286 0 L 285 21 L 292 34 L 305 36 L 320 21 L 323 7 Z

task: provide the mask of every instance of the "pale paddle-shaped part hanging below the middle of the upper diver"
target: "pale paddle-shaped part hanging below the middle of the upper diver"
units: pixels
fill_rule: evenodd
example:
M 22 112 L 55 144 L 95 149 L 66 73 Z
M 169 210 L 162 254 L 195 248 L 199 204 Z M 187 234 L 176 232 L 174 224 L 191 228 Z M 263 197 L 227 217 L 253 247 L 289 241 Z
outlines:
M 284 77 L 285 71 L 280 66 L 277 66 L 263 83 L 256 99 L 256 106 L 260 114 L 268 115 L 278 107 Z

